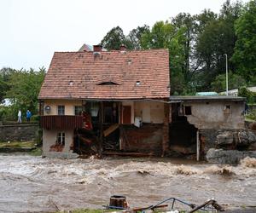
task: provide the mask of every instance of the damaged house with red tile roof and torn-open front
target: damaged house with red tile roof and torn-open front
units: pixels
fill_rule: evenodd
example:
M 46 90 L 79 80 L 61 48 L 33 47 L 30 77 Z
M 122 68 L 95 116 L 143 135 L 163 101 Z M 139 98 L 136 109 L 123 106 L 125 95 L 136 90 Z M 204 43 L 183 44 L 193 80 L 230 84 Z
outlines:
M 169 146 L 167 49 L 55 52 L 40 90 L 44 156 Z

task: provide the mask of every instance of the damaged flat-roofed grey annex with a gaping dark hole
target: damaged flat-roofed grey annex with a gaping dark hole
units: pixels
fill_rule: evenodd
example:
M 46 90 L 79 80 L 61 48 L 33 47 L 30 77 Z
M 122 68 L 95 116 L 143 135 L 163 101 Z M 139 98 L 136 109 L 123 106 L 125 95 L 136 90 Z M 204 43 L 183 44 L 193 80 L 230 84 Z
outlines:
M 170 108 L 171 151 L 199 160 L 211 148 L 242 151 L 255 142 L 245 128 L 243 97 L 171 96 Z

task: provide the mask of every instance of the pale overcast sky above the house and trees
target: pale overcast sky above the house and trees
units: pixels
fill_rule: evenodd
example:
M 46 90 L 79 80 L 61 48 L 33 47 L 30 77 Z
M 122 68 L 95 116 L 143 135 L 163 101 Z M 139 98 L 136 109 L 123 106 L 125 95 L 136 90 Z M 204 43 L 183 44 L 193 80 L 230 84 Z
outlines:
M 234 1 L 234 0 L 233 0 Z M 114 26 L 125 35 L 178 13 L 218 13 L 225 0 L 0 0 L 0 68 L 48 68 L 55 51 L 100 43 Z

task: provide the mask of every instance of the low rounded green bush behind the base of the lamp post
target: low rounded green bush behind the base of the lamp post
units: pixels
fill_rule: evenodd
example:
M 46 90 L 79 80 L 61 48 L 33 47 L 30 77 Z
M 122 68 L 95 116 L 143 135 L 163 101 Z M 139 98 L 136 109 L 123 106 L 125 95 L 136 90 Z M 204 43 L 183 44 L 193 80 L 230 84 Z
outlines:
M 229 72 L 229 89 L 236 89 L 247 86 L 247 82 L 241 76 Z M 212 90 L 216 92 L 221 92 L 226 89 L 226 75 L 218 75 L 214 81 L 211 83 Z

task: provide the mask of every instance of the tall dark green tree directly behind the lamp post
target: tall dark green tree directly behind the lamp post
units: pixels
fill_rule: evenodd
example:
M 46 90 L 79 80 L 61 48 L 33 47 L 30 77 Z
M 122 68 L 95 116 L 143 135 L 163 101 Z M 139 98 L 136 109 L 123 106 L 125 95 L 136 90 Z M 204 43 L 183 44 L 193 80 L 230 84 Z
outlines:
M 217 17 L 210 11 L 204 11 L 197 16 L 202 26 L 198 27 L 198 36 L 195 44 L 195 55 L 201 63 L 201 89 L 211 89 L 211 82 L 225 72 L 225 57 L 229 59 L 234 53 L 236 34 L 234 23 L 241 14 L 241 3 L 230 3 L 227 0 Z M 203 20 L 202 20 L 203 19 Z M 229 60 L 229 68 L 236 72 L 236 67 Z

